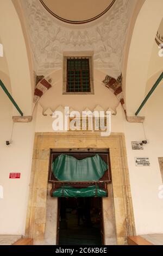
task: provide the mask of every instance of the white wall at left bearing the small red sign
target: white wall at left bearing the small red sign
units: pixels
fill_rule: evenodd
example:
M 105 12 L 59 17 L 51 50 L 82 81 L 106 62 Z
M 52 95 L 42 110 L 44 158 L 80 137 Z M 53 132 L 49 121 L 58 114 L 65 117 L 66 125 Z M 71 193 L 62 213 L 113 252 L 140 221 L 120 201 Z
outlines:
M 0 79 L 12 94 L 8 63 L 0 58 Z M 21 95 L 20 95 L 21 96 Z M 34 122 L 14 125 L 12 141 L 13 106 L 0 87 L 0 185 L 3 187 L 3 199 L 0 199 L 0 234 L 24 234 L 28 202 Z M 21 179 L 9 179 L 10 172 L 21 172 Z

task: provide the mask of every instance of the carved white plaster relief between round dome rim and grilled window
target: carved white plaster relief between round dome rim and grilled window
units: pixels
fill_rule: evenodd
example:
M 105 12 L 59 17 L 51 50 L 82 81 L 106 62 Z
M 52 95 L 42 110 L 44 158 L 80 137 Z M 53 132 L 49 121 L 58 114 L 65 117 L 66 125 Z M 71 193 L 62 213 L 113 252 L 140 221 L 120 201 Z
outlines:
M 118 0 L 99 23 L 72 28 L 43 8 L 40 1 L 21 1 L 27 19 L 36 73 L 46 76 L 62 68 L 64 51 L 93 51 L 95 69 L 118 75 L 131 15 L 129 0 Z M 76 26 L 76 25 L 74 25 Z

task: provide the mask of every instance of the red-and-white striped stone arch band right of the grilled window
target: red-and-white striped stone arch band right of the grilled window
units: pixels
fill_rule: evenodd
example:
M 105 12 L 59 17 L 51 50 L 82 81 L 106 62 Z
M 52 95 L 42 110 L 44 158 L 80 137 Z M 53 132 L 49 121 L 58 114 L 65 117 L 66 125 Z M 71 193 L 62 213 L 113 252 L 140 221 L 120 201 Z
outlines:
M 118 76 L 117 80 L 114 77 L 106 76 L 103 81 L 105 86 L 109 88 L 109 90 L 114 93 L 117 99 L 121 102 L 124 108 L 124 96 L 122 92 L 122 74 Z M 125 108 L 124 108 L 125 109 Z

